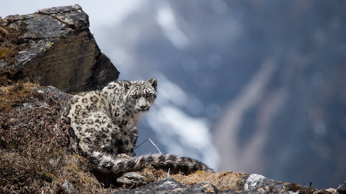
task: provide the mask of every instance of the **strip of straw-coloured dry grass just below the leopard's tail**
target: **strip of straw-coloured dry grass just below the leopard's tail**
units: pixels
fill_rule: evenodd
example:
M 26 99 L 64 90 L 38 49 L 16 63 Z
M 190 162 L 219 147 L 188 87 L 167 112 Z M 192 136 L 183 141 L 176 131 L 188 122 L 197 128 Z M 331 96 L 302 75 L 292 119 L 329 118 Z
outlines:
M 161 169 L 154 169 L 152 167 L 146 167 L 142 171 L 137 172 L 138 174 L 147 178 L 149 183 L 160 181 L 166 178 L 168 173 Z M 189 175 L 183 174 L 170 174 L 176 181 L 183 185 L 194 185 L 198 183 L 211 183 L 216 186 L 219 190 L 241 190 L 244 185 L 245 179 L 248 174 L 241 172 L 220 172 L 220 173 L 207 173 L 204 171 L 197 171 Z

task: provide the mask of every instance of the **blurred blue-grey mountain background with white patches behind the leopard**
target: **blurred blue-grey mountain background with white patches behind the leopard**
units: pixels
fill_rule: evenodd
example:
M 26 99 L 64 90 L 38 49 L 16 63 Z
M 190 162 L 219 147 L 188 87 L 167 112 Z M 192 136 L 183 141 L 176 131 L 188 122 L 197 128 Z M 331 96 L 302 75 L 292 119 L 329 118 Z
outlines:
M 18 0 L 0 16 L 75 3 L 120 80 L 158 79 L 137 145 L 318 188 L 346 180 L 346 1 Z

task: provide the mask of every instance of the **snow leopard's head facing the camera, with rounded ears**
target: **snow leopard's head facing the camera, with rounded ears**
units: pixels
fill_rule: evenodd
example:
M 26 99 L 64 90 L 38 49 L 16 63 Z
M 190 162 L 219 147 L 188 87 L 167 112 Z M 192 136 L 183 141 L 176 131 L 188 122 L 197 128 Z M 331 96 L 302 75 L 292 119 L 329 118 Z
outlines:
M 124 100 L 130 111 L 146 113 L 157 96 L 157 80 L 124 81 L 126 95 Z

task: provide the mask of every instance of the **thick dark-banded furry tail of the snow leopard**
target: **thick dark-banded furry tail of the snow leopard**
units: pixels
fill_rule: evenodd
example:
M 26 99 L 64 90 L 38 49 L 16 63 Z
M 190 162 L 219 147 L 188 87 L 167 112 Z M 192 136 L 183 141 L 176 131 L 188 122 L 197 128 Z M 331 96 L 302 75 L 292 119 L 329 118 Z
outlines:
M 170 168 L 171 172 L 191 173 L 198 170 L 213 172 L 213 169 L 200 161 L 172 154 L 152 154 L 136 157 L 119 154 L 116 157 L 111 157 L 94 152 L 92 155 L 91 159 L 96 160 L 93 163 L 97 164 L 101 171 L 111 171 L 116 174 L 138 170 L 147 165 L 166 170 Z

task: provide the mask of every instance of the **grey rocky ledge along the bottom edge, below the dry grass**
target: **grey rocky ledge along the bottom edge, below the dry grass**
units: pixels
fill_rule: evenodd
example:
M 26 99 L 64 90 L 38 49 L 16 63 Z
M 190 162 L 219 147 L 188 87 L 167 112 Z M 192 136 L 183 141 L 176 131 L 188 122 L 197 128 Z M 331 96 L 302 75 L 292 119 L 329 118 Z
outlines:
M 220 178 L 221 180 L 221 178 Z M 346 184 L 344 184 L 346 185 Z M 263 175 L 251 174 L 247 177 L 242 190 L 219 190 L 218 187 L 210 183 L 199 183 L 194 185 L 182 185 L 175 178 L 168 177 L 160 181 L 147 184 L 132 190 L 116 190 L 108 194 L 130 194 L 130 193 L 242 193 L 242 194 L 343 194 L 345 186 L 342 185 L 326 190 L 302 186 L 297 183 L 284 183 L 270 180 Z

